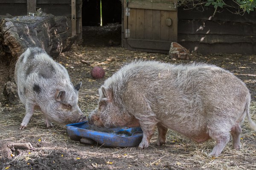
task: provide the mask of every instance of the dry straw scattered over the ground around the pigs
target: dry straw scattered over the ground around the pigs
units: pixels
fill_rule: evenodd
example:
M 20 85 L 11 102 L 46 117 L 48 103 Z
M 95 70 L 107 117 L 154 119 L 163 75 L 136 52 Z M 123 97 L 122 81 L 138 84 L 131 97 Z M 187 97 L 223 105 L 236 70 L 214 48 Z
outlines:
M 111 60 L 111 58 L 114 59 Z M 83 86 L 79 91 L 79 106 L 85 114 L 88 114 L 96 107 L 99 97 L 98 88 L 104 82 L 104 79 L 92 79 L 90 77 L 90 69 L 96 65 L 102 66 L 106 71 L 105 78 L 108 78 L 123 63 L 134 58 L 180 62 L 170 60 L 166 54 L 134 52 L 114 47 L 73 47 L 72 51 L 61 54 L 61 57 L 57 61 L 67 67 L 73 82 L 83 82 Z M 216 60 L 213 58 L 208 62 L 214 63 L 214 61 L 218 60 L 217 64 L 219 66 L 227 66 L 227 62 L 222 63 L 225 56 L 216 57 Z M 204 61 L 204 59 L 207 60 L 207 58 L 201 56 L 201 60 Z M 89 61 L 91 66 L 82 64 L 80 62 L 81 60 Z M 189 60 L 186 62 L 192 61 Z M 233 62 L 230 59 L 228 61 Z M 249 82 L 253 81 L 250 77 L 245 80 Z M 255 91 L 256 89 L 253 88 L 253 90 Z M 88 164 L 87 167 L 96 167 L 98 169 L 110 167 L 112 169 L 143 170 L 256 169 L 256 132 L 253 132 L 248 127 L 247 119 L 245 119 L 242 125 L 241 150 L 232 149 L 231 139 L 220 157 L 211 158 L 208 154 L 215 145 L 213 140 L 209 140 L 203 144 L 197 144 L 169 130 L 167 144 L 165 146 L 156 146 L 156 131 L 147 150 L 137 150 L 136 147 L 108 148 L 99 145 L 86 145 L 70 140 L 66 127 L 63 125 L 55 124 L 55 127 L 52 129 L 44 128 L 44 118 L 40 112 L 35 112 L 25 130 L 19 130 L 18 127 L 20 122 L 22 122 L 24 113 L 25 107 L 21 103 L 13 103 L 12 105 L 2 103 L 0 107 L 0 149 L 8 142 L 30 142 L 34 147 L 33 150 L 17 150 L 14 156 L 5 162 L 4 167 L 7 165 L 11 166 L 11 163 L 14 161 L 26 163 L 29 161 L 37 162 L 38 159 L 46 159 L 52 153 L 58 151 L 58 153 L 63 153 L 63 155 L 60 158 L 56 157 L 54 159 L 55 161 L 61 159 L 62 156 L 66 156 L 65 158 L 67 159 L 68 156 L 69 158 L 73 158 L 74 161 L 78 161 L 78 159 L 81 161 L 83 159 L 84 162 L 81 164 Z M 256 122 L 256 102 L 254 98 L 251 102 L 250 114 L 254 122 Z M 144 154 L 144 158 L 139 158 L 138 154 Z M 46 163 L 38 162 L 38 165 L 49 167 L 49 164 Z

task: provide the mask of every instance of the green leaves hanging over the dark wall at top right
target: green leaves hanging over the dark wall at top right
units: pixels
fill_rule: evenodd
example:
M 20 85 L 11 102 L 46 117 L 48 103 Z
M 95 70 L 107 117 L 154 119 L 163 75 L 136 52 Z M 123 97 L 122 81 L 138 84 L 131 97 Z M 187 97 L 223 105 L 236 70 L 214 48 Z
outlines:
M 233 0 L 238 4 L 239 8 L 242 9 L 243 12 L 254 11 L 256 9 L 256 0 Z M 228 6 L 223 0 L 207 0 L 204 6 L 214 6 L 215 9 L 218 7 L 223 8 L 223 6 Z

